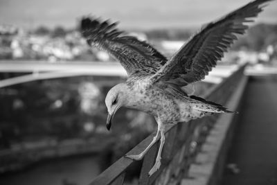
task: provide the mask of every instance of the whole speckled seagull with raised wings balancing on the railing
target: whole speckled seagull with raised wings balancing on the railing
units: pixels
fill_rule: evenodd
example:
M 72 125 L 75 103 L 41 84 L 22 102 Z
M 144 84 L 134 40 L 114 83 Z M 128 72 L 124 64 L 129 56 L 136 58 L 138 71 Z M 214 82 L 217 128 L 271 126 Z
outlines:
M 233 113 L 226 107 L 197 96 L 189 96 L 181 89 L 190 83 L 203 80 L 224 52 L 242 35 L 258 13 L 271 0 L 256 0 L 234 10 L 224 17 L 212 21 L 190 37 L 171 58 L 166 58 L 147 42 L 118 30 L 118 22 L 100 21 L 83 17 L 82 36 L 89 46 L 107 51 L 127 71 L 126 82 L 112 87 L 105 98 L 107 106 L 107 129 L 120 107 L 139 109 L 154 116 L 157 134 L 143 152 L 125 157 L 141 160 L 160 139 L 154 166 L 148 175 L 161 166 L 161 152 L 165 143 L 168 125 L 188 122 L 215 113 Z

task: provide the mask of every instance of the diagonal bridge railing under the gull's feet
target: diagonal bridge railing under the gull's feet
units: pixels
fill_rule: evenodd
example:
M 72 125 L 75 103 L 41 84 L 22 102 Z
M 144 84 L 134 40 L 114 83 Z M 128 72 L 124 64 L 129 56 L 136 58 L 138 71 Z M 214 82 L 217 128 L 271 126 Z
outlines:
M 244 66 L 235 71 L 229 78 L 213 87 L 203 98 L 224 105 L 235 91 L 242 79 Z M 166 143 L 163 148 L 161 168 L 152 176 L 148 172 L 155 162 L 158 143 L 149 150 L 143 158 L 143 165 L 139 176 L 139 184 L 178 184 L 181 179 L 189 177 L 190 165 L 195 161 L 197 153 L 201 150 L 202 143 L 213 127 L 218 115 L 207 116 L 188 123 L 179 123 L 166 131 Z M 127 155 L 139 154 L 152 141 L 155 133 L 141 141 L 136 147 L 127 152 Z M 128 166 L 134 161 L 121 157 L 109 166 L 89 185 L 124 184 L 125 173 Z

